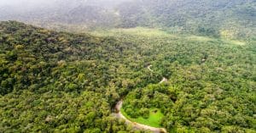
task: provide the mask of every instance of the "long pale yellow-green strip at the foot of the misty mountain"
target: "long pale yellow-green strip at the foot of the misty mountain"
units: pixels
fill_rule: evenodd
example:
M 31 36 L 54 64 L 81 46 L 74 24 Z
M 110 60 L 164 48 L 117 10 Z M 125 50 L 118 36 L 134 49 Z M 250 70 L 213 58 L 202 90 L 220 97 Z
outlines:
M 177 40 L 186 40 L 188 42 L 216 42 L 218 41 L 224 42 L 226 45 L 239 45 L 244 46 L 247 43 L 241 42 L 237 40 L 230 40 L 226 37 L 221 38 L 212 38 L 208 36 L 195 36 L 195 35 L 175 35 L 171 33 L 167 33 L 166 31 L 160 30 L 160 29 L 151 29 L 151 28 L 143 28 L 143 27 L 136 27 L 136 28 L 118 28 L 118 29 L 109 29 L 109 30 L 94 30 L 90 32 L 90 34 L 94 36 L 115 36 L 121 39 L 128 39 L 129 41 L 141 41 L 141 46 L 143 46 L 143 43 L 146 40 L 150 40 L 150 42 L 155 42 L 154 44 L 160 44 L 158 43 L 160 39 L 165 39 L 165 42 L 173 42 Z M 125 36 L 125 37 L 124 37 Z M 140 39 L 137 39 L 140 38 Z M 161 44 L 160 44 L 161 45 Z M 148 47 L 148 43 L 145 44 L 145 47 Z

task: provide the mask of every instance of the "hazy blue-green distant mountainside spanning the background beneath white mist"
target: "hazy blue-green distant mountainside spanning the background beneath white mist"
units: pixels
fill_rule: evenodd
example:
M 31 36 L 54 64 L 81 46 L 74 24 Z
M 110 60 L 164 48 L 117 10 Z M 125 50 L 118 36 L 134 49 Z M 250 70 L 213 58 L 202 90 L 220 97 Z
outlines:
M 231 39 L 253 38 L 255 18 L 255 0 L 55 0 L 38 8 L 4 7 L 0 13 L 0 20 L 50 28 L 62 25 L 56 28 L 61 30 L 67 25 L 87 30 L 146 26 Z

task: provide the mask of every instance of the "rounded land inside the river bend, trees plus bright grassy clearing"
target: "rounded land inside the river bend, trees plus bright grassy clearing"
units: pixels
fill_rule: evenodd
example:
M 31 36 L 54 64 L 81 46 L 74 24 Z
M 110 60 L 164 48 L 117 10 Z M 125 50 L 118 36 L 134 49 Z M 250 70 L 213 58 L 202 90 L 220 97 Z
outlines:
M 172 96 L 172 89 L 149 85 L 146 88 L 131 91 L 125 97 L 123 113 L 138 123 L 161 127 L 162 113 L 166 113 L 173 106 L 171 98 L 176 98 Z

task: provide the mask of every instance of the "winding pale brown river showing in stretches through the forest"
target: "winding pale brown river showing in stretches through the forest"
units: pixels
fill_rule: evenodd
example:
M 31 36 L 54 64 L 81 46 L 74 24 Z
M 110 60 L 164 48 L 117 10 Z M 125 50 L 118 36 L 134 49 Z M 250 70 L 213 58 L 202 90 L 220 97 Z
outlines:
M 148 65 L 148 70 L 152 71 L 153 70 L 151 69 L 152 65 Z M 163 79 L 160 81 L 160 84 L 163 83 L 163 82 L 166 82 L 168 81 L 165 77 L 163 77 Z M 126 119 L 125 116 L 121 113 L 121 108 L 122 108 L 122 105 L 123 105 L 123 100 L 120 100 L 116 105 L 115 105 L 115 111 L 116 113 L 113 113 L 113 116 L 117 119 L 124 119 L 125 120 L 125 124 L 127 125 L 132 125 L 134 129 L 137 129 L 137 130 L 150 130 L 152 131 L 153 133 L 166 133 L 166 129 L 164 128 L 155 128 L 155 127 L 152 127 L 152 126 L 148 126 L 148 125 L 142 125 L 142 124 L 139 124 L 137 122 L 132 122 L 131 120 L 129 119 Z

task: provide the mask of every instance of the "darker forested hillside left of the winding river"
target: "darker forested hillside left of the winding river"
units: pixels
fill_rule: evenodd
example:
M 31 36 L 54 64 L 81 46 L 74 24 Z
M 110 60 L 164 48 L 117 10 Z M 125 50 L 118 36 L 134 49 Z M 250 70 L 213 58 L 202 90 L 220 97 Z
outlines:
M 133 44 L 15 21 L 0 23 L 0 43 L 0 130 L 135 131 L 111 116 L 119 97 L 154 78 L 122 64 Z

